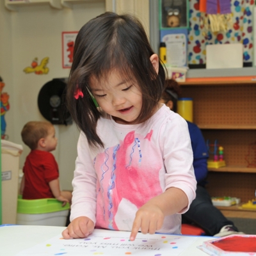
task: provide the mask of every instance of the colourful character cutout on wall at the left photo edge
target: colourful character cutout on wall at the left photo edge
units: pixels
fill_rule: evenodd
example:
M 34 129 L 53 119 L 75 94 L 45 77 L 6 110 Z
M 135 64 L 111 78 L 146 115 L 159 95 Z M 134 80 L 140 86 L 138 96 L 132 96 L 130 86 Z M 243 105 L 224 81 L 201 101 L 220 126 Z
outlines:
M 1 94 L 1 139 L 7 139 L 8 135 L 5 134 L 6 131 L 6 121 L 5 121 L 5 114 L 6 111 L 10 109 L 9 104 L 9 95 L 6 92 L 3 92 L 3 88 L 5 86 L 5 83 L 3 82 L 2 77 L 0 76 L 0 94 Z

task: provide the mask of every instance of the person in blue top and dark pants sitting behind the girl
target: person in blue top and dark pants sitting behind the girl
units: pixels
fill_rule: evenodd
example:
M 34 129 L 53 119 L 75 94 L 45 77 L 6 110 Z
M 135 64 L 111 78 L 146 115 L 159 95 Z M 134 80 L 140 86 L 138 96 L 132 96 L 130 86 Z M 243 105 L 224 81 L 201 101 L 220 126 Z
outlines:
M 175 80 L 169 80 L 163 92 L 161 103 L 166 104 L 171 110 L 177 111 L 177 100 L 181 95 L 181 88 Z M 195 223 L 204 229 L 207 236 L 228 236 L 231 234 L 243 234 L 238 232 L 234 223 L 212 205 L 211 196 L 205 189 L 208 173 L 207 159 L 209 157 L 202 132 L 196 124 L 189 121 L 188 128 L 193 149 L 193 166 L 197 181 L 196 198 L 193 200 L 189 210 L 182 214 L 182 223 Z

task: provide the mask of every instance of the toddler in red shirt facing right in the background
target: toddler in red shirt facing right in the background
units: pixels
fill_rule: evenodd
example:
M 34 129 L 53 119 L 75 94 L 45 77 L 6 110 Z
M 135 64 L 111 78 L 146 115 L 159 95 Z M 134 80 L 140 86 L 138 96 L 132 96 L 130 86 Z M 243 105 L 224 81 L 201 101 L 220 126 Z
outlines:
M 24 125 L 22 141 L 31 152 L 26 157 L 20 194 L 23 199 L 56 198 L 71 202 L 70 191 L 60 191 L 58 164 L 50 153 L 57 146 L 54 126 L 49 122 L 28 122 Z

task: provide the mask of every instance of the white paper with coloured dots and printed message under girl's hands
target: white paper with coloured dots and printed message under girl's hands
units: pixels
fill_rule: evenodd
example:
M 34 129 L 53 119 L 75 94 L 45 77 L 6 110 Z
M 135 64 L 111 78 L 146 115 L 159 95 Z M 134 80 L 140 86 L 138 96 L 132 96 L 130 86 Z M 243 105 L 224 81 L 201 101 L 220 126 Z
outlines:
M 139 233 L 135 241 L 129 241 L 130 234 L 131 232 L 95 229 L 91 236 L 84 239 L 65 240 L 60 235 L 24 250 L 17 256 L 177 256 L 197 239 L 195 236 Z

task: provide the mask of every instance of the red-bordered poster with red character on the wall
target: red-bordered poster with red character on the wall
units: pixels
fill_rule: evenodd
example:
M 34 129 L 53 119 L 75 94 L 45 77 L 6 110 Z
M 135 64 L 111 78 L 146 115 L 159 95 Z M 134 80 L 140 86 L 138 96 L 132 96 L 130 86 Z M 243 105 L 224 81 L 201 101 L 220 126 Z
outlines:
M 73 63 L 74 45 L 77 31 L 62 32 L 62 67 L 70 68 Z

